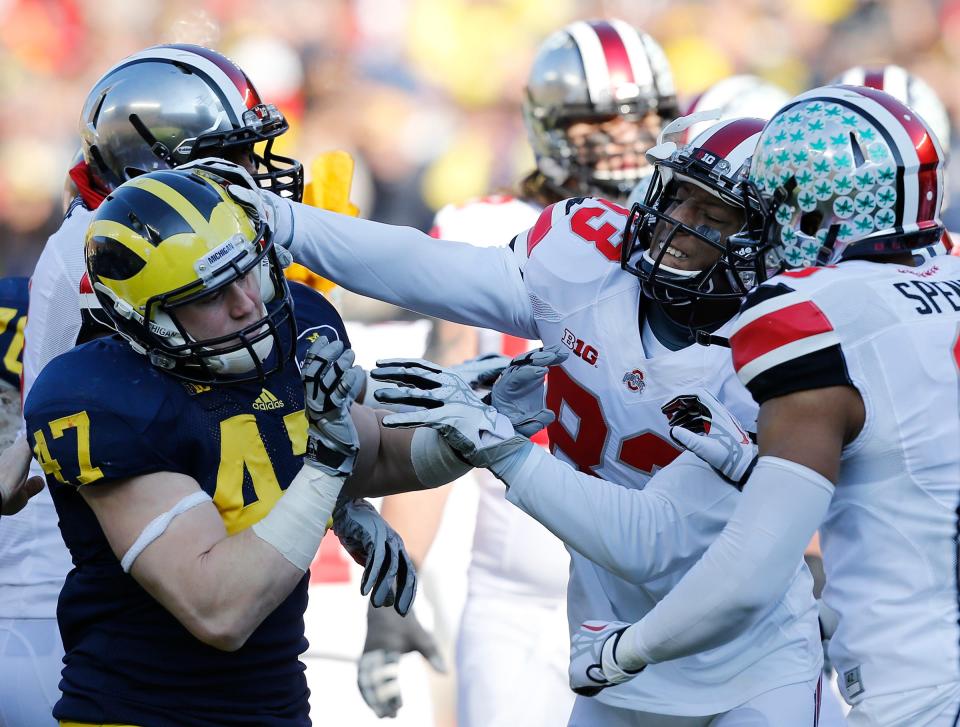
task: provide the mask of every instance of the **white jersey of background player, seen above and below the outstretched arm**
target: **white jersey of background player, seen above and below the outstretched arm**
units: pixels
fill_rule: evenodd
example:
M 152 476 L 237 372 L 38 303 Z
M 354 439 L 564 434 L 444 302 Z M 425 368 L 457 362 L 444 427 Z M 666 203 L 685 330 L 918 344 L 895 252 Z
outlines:
M 447 205 L 434 219 L 430 235 L 478 246 L 502 245 L 531 227 L 540 208 L 509 195 L 490 195 L 466 204 Z M 514 356 L 536 344 L 481 329 L 479 353 Z M 563 598 L 569 558 L 563 544 L 540 523 L 503 497 L 503 483 L 477 470 L 477 526 L 470 559 L 470 589 L 533 598 Z

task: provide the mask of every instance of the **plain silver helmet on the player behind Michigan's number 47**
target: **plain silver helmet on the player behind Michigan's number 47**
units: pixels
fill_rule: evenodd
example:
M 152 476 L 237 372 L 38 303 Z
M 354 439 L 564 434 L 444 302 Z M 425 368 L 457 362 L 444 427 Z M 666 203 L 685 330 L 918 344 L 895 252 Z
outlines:
M 289 125 L 233 62 L 197 45 L 158 45 L 107 71 L 80 117 L 83 156 L 108 189 L 156 169 L 249 149 L 260 185 L 303 197 L 303 166 L 273 153 Z M 266 142 L 262 153 L 253 145 Z

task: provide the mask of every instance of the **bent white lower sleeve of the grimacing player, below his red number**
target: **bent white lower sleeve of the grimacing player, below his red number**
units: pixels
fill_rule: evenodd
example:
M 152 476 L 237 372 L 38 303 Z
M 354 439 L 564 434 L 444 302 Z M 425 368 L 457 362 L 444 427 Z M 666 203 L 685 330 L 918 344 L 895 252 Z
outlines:
M 577 472 L 535 448 L 507 485 L 510 502 L 585 558 L 638 585 L 695 563 L 704 549 L 704 512 L 725 510 L 737 498 L 689 453 L 638 490 Z

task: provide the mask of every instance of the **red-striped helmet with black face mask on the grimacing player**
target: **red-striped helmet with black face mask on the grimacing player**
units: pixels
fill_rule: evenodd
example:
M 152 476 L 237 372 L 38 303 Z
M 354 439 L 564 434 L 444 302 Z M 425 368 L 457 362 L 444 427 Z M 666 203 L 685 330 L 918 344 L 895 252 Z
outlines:
M 678 119 L 674 125 L 682 125 Z M 698 301 L 736 301 L 764 279 L 763 255 L 753 243 L 732 242 L 707 225 L 696 228 L 670 215 L 678 182 L 688 182 L 743 212 L 739 235 L 758 236 L 763 225 L 763 203 L 747 180 L 750 158 L 763 129 L 762 119 L 732 119 L 715 123 L 690 144 L 663 142 L 647 153 L 654 164 L 646 200 L 636 202 L 621 247 L 621 267 L 640 278 L 644 295 L 659 303 L 689 305 Z M 668 138 L 671 127 L 664 130 Z M 677 134 L 682 134 L 678 129 Z M 658 226 L 668 232 L 651 250 Z M 660 227 L 662 230 L 663 227 Z M 664 260 L 670 241 L 678 235 L 694 237 L 720 251 L 705 270 L 680 270 Z M 669 260 L 669 259 L 668 259 Z

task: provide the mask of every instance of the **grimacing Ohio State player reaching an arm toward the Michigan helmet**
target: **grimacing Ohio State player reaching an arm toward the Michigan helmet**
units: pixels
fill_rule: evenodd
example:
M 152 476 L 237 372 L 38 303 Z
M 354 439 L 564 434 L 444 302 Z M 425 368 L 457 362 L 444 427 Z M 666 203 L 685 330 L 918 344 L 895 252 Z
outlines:
M 568 617 L 576 633 L 591 612 L 617 618 L 653 607 L 720 532 L 738 498 L 690 455 L 683 459 L 689 468 L 678 468 L 684 476 L 669 477 L 673 485 L 642 488 L 679 455 L 660 412 L 678 387 L 716 392 L 753 420 L 728 352 L 691 344 L 698 332 L 724 335 L 725 320 L 762 272 L 749 252 L 720 254 L 729 235 L 759 224 L 755 195 L 741 182 L 761 127 L 759 120 L 723 122 L 691 147 L 665 143 L 651 151 L 662 183 L 655 175 L 642 208 L 643 244 L 624 255 L 627 270 L 627 211 L 606 200 L 558 202 L 510 247 L 479 248 L 231 188 L 248 203 L 269 203 L 263 214 L 274 220 L 277 239 L 357 292 L 546 344 L 567 342 L 573 354 L 551 371 L 548 386 L 558 416 L 551 443 L 558 457 L 622 487 L 543 454 L 544 496 L 527 498 L 520 488 L 511 498 L 571 544 Z M 689 485 L 677 482 L 691 475 Z M 651 667 L 627 689 L 578 698 L 571 724 L 669 724 L 666 715 L 683 715 L 705 725 L 728 712 L 724 724 L 758 714 L 768 724 L 813 724 L 819 632 L 800 556 L 793 568 L 782 598 L 770 599 L 747 635 Z

